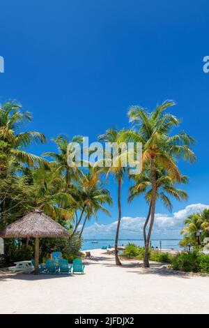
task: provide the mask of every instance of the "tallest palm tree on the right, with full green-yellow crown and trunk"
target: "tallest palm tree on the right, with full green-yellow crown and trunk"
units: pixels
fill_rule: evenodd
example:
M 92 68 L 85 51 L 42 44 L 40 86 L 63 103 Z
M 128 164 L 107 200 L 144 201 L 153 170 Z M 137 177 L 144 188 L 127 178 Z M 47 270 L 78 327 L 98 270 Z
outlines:
M 147 168 L 150 170 L 152 179 L 151 214 L 144 253 L 144 267 L 149 267 L 148 248 L 155 219 L 156 169 L 159 167 L 165 170 L 178 182 L 180 181 L 180 172 L 176 160 L 183 158 L 193 162 L 195 159 L 193 151 L 189 149 L 189 145 L 194 143 L 192 137 L 183 132 L 170 136 L 172 129 L 180 124 L 179 119 L 175 116 L 164 113 L 164 110 L 173 105 L 175 105 L 173 100 L 167 100 L 162 105 L 157 105 L 153 112 L 148 112 L 140 106 L 130 107 L 128 112 L 130 121 L 139 126 L 139 138 L 143 143 L 142 165 L 144 170 Z

